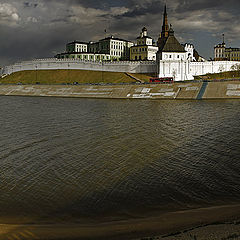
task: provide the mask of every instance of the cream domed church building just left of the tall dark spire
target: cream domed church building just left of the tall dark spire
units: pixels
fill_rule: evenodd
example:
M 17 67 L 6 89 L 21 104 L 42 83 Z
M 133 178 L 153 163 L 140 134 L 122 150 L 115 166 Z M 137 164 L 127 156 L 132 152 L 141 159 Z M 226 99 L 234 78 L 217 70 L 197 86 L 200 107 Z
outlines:
M 130 49 L 130 60 L 151 60 L 156 61 L 158 47 L 153 45 L 153 39 L 148 36 L 147 28 L 143 28 L 137 38 L 137 45 Z

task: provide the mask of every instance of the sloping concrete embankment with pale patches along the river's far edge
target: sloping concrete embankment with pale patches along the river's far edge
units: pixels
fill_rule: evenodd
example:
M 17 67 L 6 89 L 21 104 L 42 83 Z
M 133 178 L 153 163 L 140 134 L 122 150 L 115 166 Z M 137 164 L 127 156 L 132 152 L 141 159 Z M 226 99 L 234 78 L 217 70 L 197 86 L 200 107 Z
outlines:
M 129 99 L 240 99 L 240 80 L 133 85 L 0 85 L 0 95 Z

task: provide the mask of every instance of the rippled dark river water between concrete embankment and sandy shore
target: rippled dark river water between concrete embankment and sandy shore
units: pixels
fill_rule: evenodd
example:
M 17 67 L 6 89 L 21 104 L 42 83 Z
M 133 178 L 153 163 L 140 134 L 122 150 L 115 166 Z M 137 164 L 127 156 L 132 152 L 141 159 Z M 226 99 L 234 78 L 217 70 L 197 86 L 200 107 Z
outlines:
M 0 97 L 0 217 L 239 203 L 240 101 Z

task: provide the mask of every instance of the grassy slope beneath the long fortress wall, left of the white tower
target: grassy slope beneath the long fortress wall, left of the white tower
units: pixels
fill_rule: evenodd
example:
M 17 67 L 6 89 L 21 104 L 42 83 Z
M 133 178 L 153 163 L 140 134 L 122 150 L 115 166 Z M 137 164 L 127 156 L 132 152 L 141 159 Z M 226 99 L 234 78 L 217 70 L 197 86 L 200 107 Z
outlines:
M 138 79 L 149 82 L 151 76 L 131 74 Z M 87 70 L 38 70 L 21 71 L 0 78 L 2 84 L 72 84 L 78 83 L 132 83 L 136 82 L 125 73 L 100 72 Z

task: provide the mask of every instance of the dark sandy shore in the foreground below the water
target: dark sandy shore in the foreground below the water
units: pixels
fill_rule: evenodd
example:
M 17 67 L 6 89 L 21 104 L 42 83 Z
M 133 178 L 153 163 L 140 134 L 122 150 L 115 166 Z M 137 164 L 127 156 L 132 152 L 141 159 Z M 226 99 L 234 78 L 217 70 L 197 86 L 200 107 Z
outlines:
M 0 224 L 0 240 L 21 237 L 34 240 L 239 239 L 239 219 L 240 205 L 228 205 L 112 222 Z

